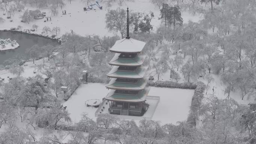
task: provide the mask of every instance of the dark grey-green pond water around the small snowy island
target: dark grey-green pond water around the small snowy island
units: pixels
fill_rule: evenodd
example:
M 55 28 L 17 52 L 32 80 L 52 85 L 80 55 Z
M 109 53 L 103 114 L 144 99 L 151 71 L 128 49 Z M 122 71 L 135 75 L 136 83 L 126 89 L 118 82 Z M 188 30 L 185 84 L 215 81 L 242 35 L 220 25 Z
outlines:
M 25 51 L 27 48 L 31 48 L 33 45 L 60 45 L 57 40 L 47 39 L 40 36 L 34 36 L 30 34 L 19 33 L 15 31 L 0 31 L 0 39 L 16 40 L 19 44 L 19 48 L 13 50 L 0 51 L 0 65 L 4 64 L 4 61 L 15 56 L 26 56 Z

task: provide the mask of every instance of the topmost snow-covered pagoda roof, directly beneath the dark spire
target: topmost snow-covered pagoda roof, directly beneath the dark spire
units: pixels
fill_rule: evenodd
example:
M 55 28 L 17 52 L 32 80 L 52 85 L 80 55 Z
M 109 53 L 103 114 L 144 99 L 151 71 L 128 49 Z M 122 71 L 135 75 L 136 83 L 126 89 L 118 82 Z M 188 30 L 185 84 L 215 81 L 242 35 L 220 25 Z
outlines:
M 145 42 L 132 38 L 124 38 L 121 40 L 117 40 L 115 45 L 113 45 L 112 48 L 110 48 L 109 50 L 111 52 L 117 53 L 140 53 L 145 45 Z

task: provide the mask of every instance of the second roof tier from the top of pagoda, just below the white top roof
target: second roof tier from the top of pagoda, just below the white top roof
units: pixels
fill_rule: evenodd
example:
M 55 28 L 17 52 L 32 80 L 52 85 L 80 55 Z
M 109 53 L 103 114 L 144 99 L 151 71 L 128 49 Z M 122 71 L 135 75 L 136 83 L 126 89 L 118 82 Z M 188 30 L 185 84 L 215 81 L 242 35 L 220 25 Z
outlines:
M 137 55 L 134 59 L 128 58 L 119 58 L 121 53 L 116 53 L 115 56 L 111 59 L 109 64 L 111 65 L 123 65 L 123 66 L 140 66 L 143 64 L 146 55 Z

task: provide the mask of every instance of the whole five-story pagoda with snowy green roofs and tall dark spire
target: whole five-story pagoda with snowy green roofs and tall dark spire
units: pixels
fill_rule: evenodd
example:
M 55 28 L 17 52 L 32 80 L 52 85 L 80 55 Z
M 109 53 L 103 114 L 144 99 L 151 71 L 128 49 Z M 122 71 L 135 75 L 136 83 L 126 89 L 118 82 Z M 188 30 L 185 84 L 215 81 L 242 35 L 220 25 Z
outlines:
M 105 98 L 110 101 L 110 114 L 142 116 L 150 89 L 145 88 L 148 66 L 143 66 L 143 62 L 146 55 L 140 54 L 146 43 L 130 38 L 128 12 L 127 8 L 127 36 L 109 49 L 116 54 L 109 62 L 112 70 L 107 76 L 112 79 L 106 87 L 111 90 Z

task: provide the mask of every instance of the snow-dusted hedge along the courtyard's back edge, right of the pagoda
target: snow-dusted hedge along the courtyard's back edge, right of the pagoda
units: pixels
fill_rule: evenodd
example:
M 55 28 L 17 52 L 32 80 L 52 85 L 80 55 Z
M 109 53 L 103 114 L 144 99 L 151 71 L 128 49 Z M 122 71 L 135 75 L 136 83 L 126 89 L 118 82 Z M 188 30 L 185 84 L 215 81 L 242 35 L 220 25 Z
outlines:
M 195 83 L 176 83 L 171 81 L 156 81 L 149 80 L 147 86 L 165 87 L 165 88 L 179 88 L 179 89 L 196 89 Z

